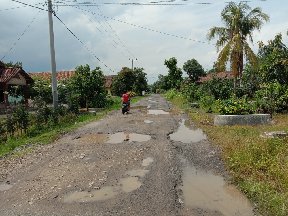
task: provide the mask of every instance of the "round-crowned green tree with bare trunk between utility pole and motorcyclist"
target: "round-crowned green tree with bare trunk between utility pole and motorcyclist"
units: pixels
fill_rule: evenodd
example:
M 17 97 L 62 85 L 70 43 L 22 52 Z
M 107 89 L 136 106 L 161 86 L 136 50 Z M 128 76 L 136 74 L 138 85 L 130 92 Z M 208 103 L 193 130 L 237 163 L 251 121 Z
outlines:
M 71 92 L 85 98 L 85 105 L 88 111 L 88 101 L 94 96 L 105 92 L 106 78 L 100 67 L 90 71 L 88 64 L 80 65 L 75 69 L 76 75 L 70 79 Z

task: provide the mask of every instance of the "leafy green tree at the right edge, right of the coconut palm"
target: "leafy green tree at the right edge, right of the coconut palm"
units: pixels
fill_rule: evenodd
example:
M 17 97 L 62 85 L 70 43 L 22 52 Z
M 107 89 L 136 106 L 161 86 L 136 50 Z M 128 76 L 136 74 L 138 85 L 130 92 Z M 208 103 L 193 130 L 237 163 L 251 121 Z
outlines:
M 264 82 L 288 85 L 288 49 L 282 43 L 282 34 L 277 34 L 267 45 L 262 41 L 258 44 L 260 56 L 263 58 L 260 74 Z

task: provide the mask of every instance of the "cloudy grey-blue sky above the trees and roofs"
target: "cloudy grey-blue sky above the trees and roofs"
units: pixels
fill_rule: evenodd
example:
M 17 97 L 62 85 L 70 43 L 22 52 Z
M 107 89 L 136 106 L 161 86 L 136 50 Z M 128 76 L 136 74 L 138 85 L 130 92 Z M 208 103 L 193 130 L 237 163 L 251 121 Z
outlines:
M 47 10 L 45 0 L 18 1 Z M 163 75 L 168 73 L 163 64 L 165 59 L 171 57 L 178 60 L 178 67 L 182 67 L 187 60 L 195 58 L 205 70 L 211 69 L 213 61 L 217 60 L 213 45 L 216 40 L 209 42 L 206 40 L 206 35 L 212 26 L 223 26 L 220 12 L 229 1 L 168 0 L 164 3 L 163 1 L 58 0 L 55 10 L 58 18 L 71 32 L 116 73 L 125 66 L 132 68 L 132 61 L 129 58 L 137 58 L 134 67 L 145 69 L 149 84 L 157 80 L 159 73 Z M 127 4 L 146 2 L 144 5 Z M 120 4 L 112 5 L 116 3 Z M 252 8 L 262 7 L 263 12 L 271 17 L 271 21 L 262 27 L 261 33 L 254 33 L 254 45 L 250 44 L 253 50 L 258 50 L 257 41 L 267 43 L 280 32 L 284 43 L 288 45 L 286 35 L 288 1 L 266 0 L 247 1 L 247 3 Z M 51 71 L 48 12 L 11 0 L 0 0 L 0 5 L 0 59 L 3 62 L 22 62 L 26 72 Z M 107 21 L 103 16 L 97 15 L 101 13 L 109 17 L 106 18 Z M 79 65 L 89 64 L 91 69 L 100 66 L 105 75 L 116 74 L 99 62 L 57 17 L 53 16 L 53 22 L 57 71 L 74 70 Z

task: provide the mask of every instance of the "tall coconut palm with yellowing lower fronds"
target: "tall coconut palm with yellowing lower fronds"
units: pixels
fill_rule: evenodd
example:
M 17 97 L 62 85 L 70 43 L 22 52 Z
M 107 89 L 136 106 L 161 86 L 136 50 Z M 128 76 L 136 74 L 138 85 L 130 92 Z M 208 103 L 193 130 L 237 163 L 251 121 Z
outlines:
M 269 22 L 268 14 L 262 13 L 262 8 L 251 9 L 242 1 L 237 5 L 230 2 L 221 12 L 221 19 L 225 27 L 212 27 L 209 29 L 207 39 L 211 41 L 219 37 L 215 48 L 219 53 L 217 65 L 219 71 L 225 71 L 230 61 L 230 70 L 235 76 L 234 94 L 236 94 L 237 77 L 242 75 L 244 57 L 256 65 L 257 57 L 247 43 L 247 38 L 253 44 L 253 31 L 263 26 L 264 21 Z M 220 51 L 221 50 L 221 51 Z

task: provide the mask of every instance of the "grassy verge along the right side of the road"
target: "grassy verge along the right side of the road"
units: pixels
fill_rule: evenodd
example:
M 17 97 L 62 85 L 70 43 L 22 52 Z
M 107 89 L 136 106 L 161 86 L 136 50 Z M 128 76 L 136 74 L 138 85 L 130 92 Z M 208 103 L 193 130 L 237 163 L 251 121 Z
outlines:
M 223 149 L 234 183 L 247 195 L 262 215 L 288 215 L 288 139 L 264 139 L 267 131 L 288 130 L 288 114 L 273 117 L 274 126 L 213 125 L 214 118 L 203 109 L 190 108 L 182 100 L 171 100 L 189 114 L 211 141 Z

